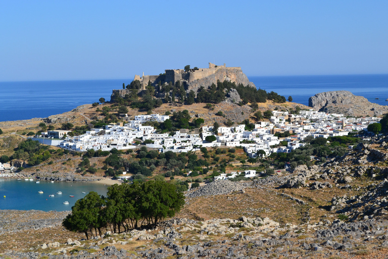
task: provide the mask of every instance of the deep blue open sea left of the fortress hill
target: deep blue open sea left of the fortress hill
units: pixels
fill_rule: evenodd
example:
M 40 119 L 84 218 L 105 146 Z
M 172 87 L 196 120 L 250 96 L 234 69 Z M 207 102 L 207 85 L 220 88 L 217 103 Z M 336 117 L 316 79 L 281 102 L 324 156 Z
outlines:
M 112 89 L 132 79 L 0 82 L 0 121 L 48 117 L 75 107 L 109 101 Z

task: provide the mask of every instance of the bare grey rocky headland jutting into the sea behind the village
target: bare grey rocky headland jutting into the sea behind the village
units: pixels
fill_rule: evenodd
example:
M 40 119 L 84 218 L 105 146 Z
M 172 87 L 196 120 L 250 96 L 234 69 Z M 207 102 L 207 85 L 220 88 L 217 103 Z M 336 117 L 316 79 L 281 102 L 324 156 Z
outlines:
M 349 91 L 332 91 L 316 94 L 309 98 L 309 106 L 315 110 L 343 113 L 347 116 L 378 116 L 388 112 L 388 106 L 369 102 L 362 96 Z

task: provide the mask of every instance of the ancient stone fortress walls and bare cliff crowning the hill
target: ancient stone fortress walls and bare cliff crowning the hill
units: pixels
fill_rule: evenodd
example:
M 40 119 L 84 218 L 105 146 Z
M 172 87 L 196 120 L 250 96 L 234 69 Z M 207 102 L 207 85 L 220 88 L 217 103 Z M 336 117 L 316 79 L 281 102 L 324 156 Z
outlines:
M 177 81 L 181 81 L 187 92 L 193 90 L 197 93 L 197 90 L 203 86 L 209 87 L 212 83 L 217 84 L 217 80 L 223 82 L 224 80 L 235 82 L 236 84 L 242 83 L 244 85 L 250 85 L 255 87 L 253 82 L 250 82 L 248 77 L 243 73 L 241 67 L 227 67 L 223 65 L 215 65 L 209 62 L 209 68 L 189 69 L 166 69 L 164 74 L 160 75 L 135 75 L 133 80 L 139 80 L 141 83 L 141 90 L 145 90 L 149 82 L 156 86 L 159 82 L 161 84 L 172 82 L 175 84 Z M 255 87 L 256 88 L 256 87 Z M 124 96 L 127 90 L 113 90 L 119 91 L 120 96 Z

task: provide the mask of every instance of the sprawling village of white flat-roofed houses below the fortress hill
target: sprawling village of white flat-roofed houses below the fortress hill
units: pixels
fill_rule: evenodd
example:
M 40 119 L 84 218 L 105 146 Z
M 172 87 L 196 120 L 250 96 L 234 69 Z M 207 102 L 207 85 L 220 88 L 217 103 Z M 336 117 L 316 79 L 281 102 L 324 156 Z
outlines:
M 327 114 L 310 109 L 301 110 L 299 114 L 272 111 L 269 122 L 254 124 L 252 131 L 247 131 L 245 124 L 218 127 L 217 132 L 213 126 L 204 125 L 195 131 L 182 129 L 169 134 L 156 133 L 153 126 L 142 125 L 148 121 L 164 122 L 169 118 L 169 115 L 159 114 L 136 115 L 134 120 L 128 120 L 124 125 L 110 123 L 105 128 L 92 128 L 83 135 L 66 137 L 63 140 L 58 137 L 63 137 L 70 131 L 50 131 L 42 133 L 49 137 L 47 139 L 32 139 L 42 144 L 52 143 L 51 145 L 80 152 L 89 149 L 103 151 L 113 148 L 134 149 L 136 143 L 141 142 L 148 148 L 158 149 L 160 152 L 177 153 L 196 151 L 201 147 L 243 147 L 249 157 L 256 158 L 274 152 L 289 153 L 305 145 L 303 140 L 308 136 L 313 138 L 347 136 L 351 132 L 366 131 L 369 124 L 379 121 L 377 117 L 345 117 L 343 114 Z M 283 138 L 278 137 L 284 133 L 288 134 Z M 208 136 L 214 137 L 207 138 Z

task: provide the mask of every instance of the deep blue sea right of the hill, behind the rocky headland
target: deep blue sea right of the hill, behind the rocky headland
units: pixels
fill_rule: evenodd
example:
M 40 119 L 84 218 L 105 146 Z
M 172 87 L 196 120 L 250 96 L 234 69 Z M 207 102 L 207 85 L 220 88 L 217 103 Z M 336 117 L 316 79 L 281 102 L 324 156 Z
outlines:
M 388 105 L 388 74 L 379 75 L 312 75 L 312 76 L 250 76 L 257 88 L 293 97 L 293 102 L 309 105 L 315 94 L 346 90 L 363 96 L 369 102 Z M 379 98 L 376 100 L 375 98 Z

